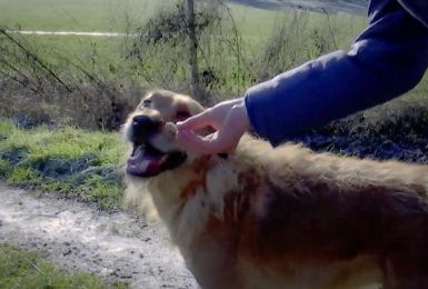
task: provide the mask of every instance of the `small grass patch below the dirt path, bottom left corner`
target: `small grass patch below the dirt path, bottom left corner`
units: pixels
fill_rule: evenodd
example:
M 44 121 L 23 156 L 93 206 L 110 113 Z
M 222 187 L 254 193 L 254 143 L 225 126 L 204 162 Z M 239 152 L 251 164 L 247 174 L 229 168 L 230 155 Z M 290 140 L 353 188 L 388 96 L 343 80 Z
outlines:
M 50 263 L 41 252 L 0 245 L 0 289 L 21 288 L 128 288 L 125 283 L 107 283 L 86 272 L 67 272 Z

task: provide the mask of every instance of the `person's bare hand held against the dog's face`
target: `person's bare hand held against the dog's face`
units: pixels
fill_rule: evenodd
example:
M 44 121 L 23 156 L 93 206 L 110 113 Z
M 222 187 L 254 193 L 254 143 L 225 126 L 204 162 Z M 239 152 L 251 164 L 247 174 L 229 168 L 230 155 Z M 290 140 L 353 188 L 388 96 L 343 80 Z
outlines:
M 216 131 L 206 137 L 197 129 L 212 127 Z M 203 112 L 177 123 L 177 141 L 189 150 L 213 155 L 233 150 L 249 129 L 243 98 L 223 101 Z

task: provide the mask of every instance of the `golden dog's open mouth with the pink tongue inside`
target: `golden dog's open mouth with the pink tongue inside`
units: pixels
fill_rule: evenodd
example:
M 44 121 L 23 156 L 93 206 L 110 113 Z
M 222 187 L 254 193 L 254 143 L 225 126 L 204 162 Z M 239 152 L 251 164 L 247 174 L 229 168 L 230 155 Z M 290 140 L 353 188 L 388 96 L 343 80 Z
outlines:
M 186 161 L 182 151 L 162 152 L 150 143 L 135 144 L 128 158 L 127 172 L 136 177 L 153 177 L 165 170 L 175 169 Z

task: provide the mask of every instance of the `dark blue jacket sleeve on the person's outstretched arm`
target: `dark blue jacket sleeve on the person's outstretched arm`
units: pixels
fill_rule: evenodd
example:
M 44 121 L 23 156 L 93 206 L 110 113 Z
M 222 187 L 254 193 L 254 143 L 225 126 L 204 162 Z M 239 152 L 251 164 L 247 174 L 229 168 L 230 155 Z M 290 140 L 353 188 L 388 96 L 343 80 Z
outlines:
M 428 29 L 392 0 L 371 1 L 369 20 L 349 52 L 336 51 L 250 88 L 245 100 L 252 129 L 278 146 L 414 88 L 428 66 Z

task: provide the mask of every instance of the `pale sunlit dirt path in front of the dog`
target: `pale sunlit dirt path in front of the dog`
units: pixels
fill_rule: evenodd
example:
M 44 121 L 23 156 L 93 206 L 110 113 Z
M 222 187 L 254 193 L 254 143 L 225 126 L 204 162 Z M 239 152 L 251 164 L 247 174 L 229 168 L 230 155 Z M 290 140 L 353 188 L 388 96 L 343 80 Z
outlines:
M 0 242 L 44 250 L 64 268 L 131 288 L 198 288 L 161 225 L 53 195 L 0 186 Z

